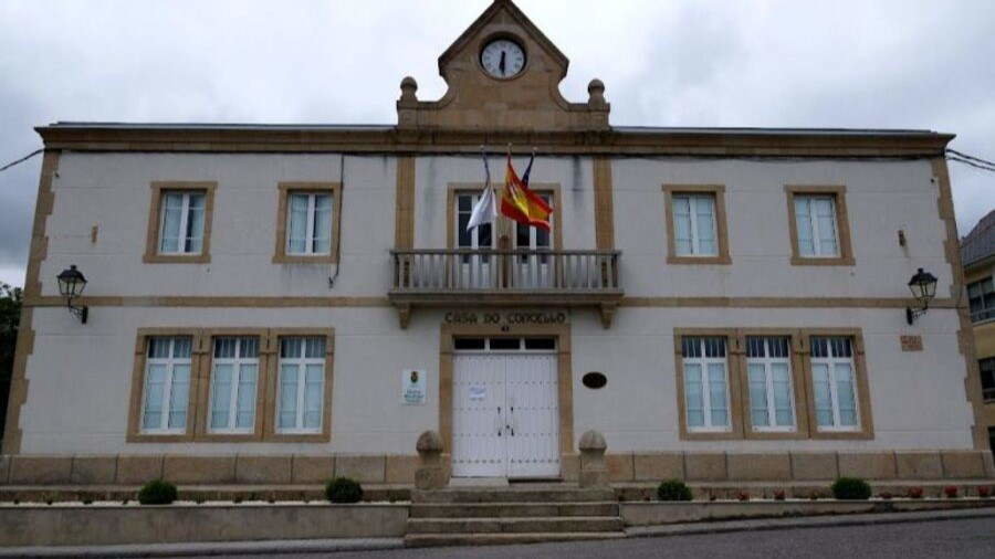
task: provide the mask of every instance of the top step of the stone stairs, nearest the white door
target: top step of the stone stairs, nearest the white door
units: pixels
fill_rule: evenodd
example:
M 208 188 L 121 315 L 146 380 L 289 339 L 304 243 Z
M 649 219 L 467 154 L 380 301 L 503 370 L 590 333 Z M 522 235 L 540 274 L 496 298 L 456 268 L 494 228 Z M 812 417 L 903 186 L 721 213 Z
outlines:
M 617 500 L 612 489 L 460 487 L 411 492 L 412 503 L 598 503 L 606 500 Z

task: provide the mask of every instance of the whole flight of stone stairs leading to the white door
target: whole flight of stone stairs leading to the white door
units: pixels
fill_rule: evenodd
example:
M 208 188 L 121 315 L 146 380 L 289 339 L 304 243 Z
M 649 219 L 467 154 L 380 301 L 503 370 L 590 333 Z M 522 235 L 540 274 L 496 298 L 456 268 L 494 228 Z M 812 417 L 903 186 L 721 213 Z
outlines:
M 409 547 L 625 537 L 611 489 L 576 485 L 448 487 L 411 494 Z

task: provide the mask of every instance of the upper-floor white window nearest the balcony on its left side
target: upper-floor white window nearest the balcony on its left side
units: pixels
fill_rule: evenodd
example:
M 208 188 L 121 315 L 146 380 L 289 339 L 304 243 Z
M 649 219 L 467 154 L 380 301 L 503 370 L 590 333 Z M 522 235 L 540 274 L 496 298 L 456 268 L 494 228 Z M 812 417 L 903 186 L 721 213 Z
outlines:
M 292 192 L 287 202 L 286 253 L 321 256 L 332 253 L 332 196 Z

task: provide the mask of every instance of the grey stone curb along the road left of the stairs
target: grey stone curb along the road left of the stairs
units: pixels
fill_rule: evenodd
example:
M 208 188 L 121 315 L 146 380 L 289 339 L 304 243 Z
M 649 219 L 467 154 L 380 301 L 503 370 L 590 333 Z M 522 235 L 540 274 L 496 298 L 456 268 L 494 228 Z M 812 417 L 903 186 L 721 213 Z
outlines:
M 136 546 L 12 547 L 0 549 L 0 558 L 269 556 L 276 553 L 378 551 L 385 549 L 399 549 L 402 547 L 405 547 L 405 540 L 401 538 L 154 544 Z

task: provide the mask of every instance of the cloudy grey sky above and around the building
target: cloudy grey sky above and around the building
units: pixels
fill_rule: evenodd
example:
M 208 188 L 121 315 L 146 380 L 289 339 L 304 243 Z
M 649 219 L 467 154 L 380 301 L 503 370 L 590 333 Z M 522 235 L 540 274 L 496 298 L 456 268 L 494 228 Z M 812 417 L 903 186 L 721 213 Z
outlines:
M 398 84 L 491 0 L 0 2 L 0 165 L 54 120 L 394 124 Z M 606 84 L 615 125 L 931 128 L 995 159 L 991 0 L 519 0 Z M 22 285 L 40 158 L 0 173 L 0 282 Z M 951 162 L 961 234 L 995 173 Z

